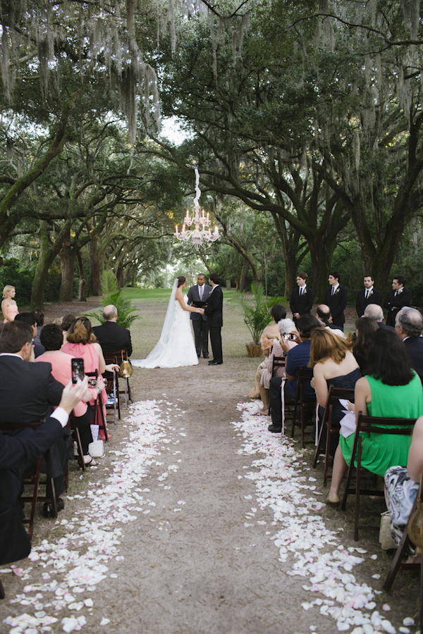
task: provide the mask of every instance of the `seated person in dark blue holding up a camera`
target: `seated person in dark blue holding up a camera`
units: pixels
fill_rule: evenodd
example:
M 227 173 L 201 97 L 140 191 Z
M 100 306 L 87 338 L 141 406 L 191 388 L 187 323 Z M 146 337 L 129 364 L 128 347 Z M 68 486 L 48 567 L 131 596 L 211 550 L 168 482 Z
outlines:
M 281 339 L 281 348 L 286 356 L 286 384 L 285 394 L 289 399 L 295 399 L 297 392 L 298 373 L 300 368 L 307 368 L 310 360 L 310 346 L 312 331 L 315 328 L 321 328 L 321 322 L 317 317 L 312 315 L 302 315 L 298 320 L 298 329 L 293 330 L 294 341 L 298 345 L 290 349 L 288 342 Z M 282 431 L 282 394 L 281 394 L 282 377 L 275 376 L 269 382 L 269 403 L 271 408 L 271 425 L 269 431 L 271 433 L 281 433 Z M 315 394 L 313 388 L 306 384 L 304 387 L 305 397 L 314 400 Z

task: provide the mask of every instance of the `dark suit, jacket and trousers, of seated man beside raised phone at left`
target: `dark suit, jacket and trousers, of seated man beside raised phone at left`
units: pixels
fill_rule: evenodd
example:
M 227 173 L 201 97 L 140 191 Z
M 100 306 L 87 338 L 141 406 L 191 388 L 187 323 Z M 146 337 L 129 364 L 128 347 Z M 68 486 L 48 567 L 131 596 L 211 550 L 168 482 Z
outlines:
M 38 423 L 59 405 L 63 385 L 51 374 L 51 363 L 30 363 L 20 356 L 0 355 L 0 423 Z M 56 497 L 65 487 L 66 465 L 72 447 L 68 430 L 51 447 L 47 471 L 54 478 Z

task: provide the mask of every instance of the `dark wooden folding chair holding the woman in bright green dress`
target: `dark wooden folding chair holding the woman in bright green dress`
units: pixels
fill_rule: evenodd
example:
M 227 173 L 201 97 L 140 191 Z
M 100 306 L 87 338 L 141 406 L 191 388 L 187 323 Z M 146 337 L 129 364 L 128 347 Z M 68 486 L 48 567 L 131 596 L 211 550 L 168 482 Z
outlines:
M 416 418 L 382 418 L 377 416 L 363 416 L 360 411 L 357 420 L 357 429 L 355 430 L 353 452 L 351 453 L 350 466 L 348 468 L 347 480 L 345 483 L 345 492 L 342 500 L 342 509 L 345 511 L 347 505 L 347 498 L 350 493 L 355 494 L 355 521 L 354 521 L 354 539 L 358 540 L 358 533 L 360 528 L 367 530 L 379 530 L 378 526 L 367 526 L 360 524 L 360 495 L 372 495 L 376 497 L 384 497 L 384 492 L 379 489 L 362 489 L 361 488 L 361 476 L 362 476 L 362 433 L 371 434 L 389 434 L 410 436 L 412 434 L 412 428 L 416 422 Z M 380 425 L 386 425 L 381 427 Z M 355 468 L 355 456 L 357 454 L 357 473 L 355 475 L 355 487 L 351 487 L 351 478 L 353 477 L 353 470 Z M 374 517 L 380 516 L 379 513 L 371 511 L 361 514 L 361 517 Z

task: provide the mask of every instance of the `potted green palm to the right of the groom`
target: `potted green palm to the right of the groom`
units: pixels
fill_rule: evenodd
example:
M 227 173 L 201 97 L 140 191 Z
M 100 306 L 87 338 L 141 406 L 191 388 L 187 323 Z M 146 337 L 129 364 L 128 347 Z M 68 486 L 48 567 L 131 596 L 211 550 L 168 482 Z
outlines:
M 244 312 L 244 323 L 250 330 L 252 341 L 245 344 L 248 356 L 262 356 L 260 337 L 264 328 L 271 322 L 271 307 L 282 304 L 281 297 L 266 297 L 262 282 L 251 285 L 252 297 L 240 297 L 240 305 Z

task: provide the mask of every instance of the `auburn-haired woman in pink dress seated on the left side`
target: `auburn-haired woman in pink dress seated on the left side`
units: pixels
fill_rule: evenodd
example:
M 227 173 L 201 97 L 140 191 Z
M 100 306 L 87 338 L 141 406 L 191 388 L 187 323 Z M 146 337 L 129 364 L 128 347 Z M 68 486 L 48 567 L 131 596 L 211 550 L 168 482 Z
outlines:
M 99 378 L 101 379 L 101 375 L 104 371 L 119 371 L 119 366 L 117 366 L 116 363 L 110 363 L 106 366 L 102 347 L 97 343 L 94 332 L 92 332 L 91 322 L 86 317 L 78 318 L 73 322 L 71 328 L 68 330 L 68 340 L 66 344 L 63 345 L 62 352 L 71 354 L 71 356 L 75 356 L 77 359 L 84 359 L 84 371 L 94 372 L 97 370 L 100 375 Z M 104 385 L 104 383 L 102 385 Z M 104 418 L 106 418 L 106 390 L 103 387 L 99 392 L 102 394 L 103 414 Z M 97 397 L 96 399 L 93 397 L 90 400 L 90 405 L 94 407 L 96 401 Z M 103 430 L 100 430 L 99 437 L 104 440 L 105 435 Z

